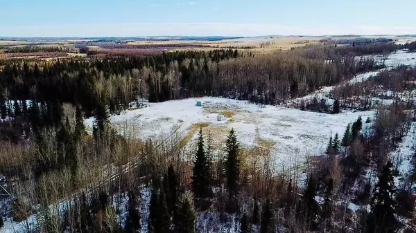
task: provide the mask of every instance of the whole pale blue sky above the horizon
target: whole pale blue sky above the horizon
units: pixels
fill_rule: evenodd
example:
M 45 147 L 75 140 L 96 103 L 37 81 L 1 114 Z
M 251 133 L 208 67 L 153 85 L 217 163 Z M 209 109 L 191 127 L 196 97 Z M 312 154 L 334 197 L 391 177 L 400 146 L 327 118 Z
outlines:
M 0 37 L 416 34 L 415 0 L 0 0 Z

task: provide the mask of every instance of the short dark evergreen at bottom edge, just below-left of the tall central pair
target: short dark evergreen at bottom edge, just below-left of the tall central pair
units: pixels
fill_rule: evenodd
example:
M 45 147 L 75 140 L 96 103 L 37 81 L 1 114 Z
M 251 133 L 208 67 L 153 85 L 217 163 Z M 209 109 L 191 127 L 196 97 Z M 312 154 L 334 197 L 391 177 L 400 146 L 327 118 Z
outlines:
M 175 233 L 196 233 L 196 213 L 188 198 L 182 201 L 175 223 Z

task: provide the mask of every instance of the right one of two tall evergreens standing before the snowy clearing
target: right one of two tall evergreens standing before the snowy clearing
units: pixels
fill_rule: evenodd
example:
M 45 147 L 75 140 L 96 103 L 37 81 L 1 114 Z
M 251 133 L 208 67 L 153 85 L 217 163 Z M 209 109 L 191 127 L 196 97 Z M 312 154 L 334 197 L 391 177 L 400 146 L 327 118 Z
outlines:
M 240 157 L 239 143 L 232 129 L 227 138 L 227 157 L 225 158 L 225 174 L 227 176 L 227 188 L 229 197 L 232 198 L 239 190 Z

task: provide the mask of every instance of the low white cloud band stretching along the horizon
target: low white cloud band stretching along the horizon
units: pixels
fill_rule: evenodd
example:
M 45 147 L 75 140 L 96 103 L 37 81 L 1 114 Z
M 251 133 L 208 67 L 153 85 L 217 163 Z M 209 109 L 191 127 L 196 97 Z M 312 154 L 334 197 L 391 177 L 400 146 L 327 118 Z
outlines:
M 4 37 L 135 37 L 158 35 L 399 35 L 416 34 L 416 26 L 287 26 L 280 24 L 62 24 L 0 26 Z

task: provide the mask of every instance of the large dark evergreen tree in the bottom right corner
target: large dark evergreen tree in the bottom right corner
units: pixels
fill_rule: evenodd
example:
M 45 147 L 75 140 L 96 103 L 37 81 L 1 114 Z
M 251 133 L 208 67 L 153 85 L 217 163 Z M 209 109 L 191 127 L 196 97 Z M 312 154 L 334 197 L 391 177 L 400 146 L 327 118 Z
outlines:
M 392 162 L 388 161 L 379 175 L 371 200 L 371 212 L 367 218 L 367 232 L 396 232 L 399 222 L 395 216 L 395 183 Z

